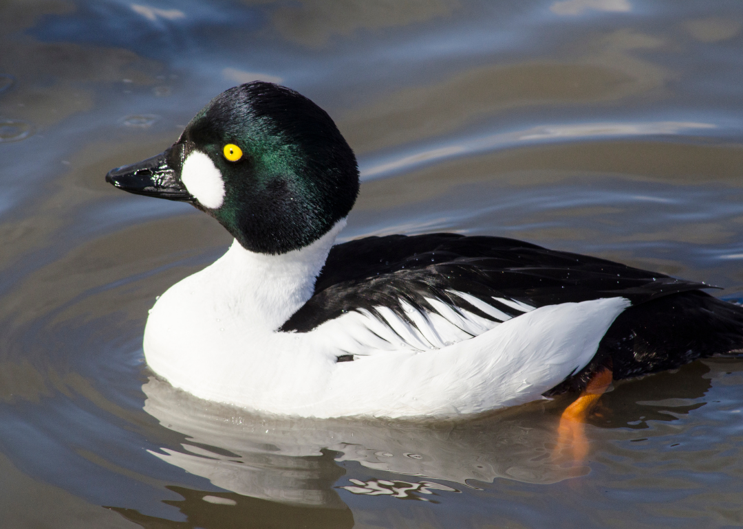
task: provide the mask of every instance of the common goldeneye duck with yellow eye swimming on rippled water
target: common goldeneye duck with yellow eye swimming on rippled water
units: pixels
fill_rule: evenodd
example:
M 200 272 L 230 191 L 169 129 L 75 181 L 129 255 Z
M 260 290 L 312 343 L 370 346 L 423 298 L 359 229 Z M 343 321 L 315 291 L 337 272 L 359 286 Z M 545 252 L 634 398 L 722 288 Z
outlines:
M 580 415 L 612 378 L 743 348 L 743 309 L 701 283 L 502 237 L 334 246 L 356 159 L 282 86 L 230 88 L 163 154 L 106 180 L 191 203 L 235 237 L 158 299 L 144 335 L 149 367 L 208 400 L 446 417 L 582 390 Z

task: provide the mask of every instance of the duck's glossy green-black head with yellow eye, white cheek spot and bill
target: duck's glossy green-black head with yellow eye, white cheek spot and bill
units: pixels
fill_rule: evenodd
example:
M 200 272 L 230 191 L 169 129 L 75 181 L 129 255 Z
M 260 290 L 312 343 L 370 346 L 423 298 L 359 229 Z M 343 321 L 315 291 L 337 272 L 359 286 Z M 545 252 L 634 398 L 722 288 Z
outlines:
M 322 108 L 289 88 L 251 82 L 212 99 L 165 152 L 113 169 L 106 181 L 192 203 L 245 249 L 281 254 L 313 243 L 351 211 L 359 171 Z

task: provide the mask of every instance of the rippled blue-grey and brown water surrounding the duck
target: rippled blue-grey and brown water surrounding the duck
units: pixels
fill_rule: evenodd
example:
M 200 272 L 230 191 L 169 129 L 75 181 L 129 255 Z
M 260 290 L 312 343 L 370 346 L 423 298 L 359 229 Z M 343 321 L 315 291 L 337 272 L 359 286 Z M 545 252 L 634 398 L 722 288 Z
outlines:
M 569 396 L 426 423 L 265 418 L 172 390 L 143 364 L 147 309 L 230 239 L 103 181 L 216 93 L 282 82 L 359 156 L 346 239 L 519 237 L 739 299 L 742 28 L 732 0 L 5 2 L 2 525 L 742 525 L 735 359 L 616 384 L 577 466 L 554 450 Z

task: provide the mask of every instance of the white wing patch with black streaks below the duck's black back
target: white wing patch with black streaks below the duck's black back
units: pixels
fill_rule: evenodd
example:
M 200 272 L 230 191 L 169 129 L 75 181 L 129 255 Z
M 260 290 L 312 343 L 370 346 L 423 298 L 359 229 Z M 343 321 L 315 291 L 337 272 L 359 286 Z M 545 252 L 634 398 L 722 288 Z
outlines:
M 393 351 L 423 352 L 468 340 L 493 329 L 513 316 L 506 314 L 466 292 L 447 291 L 458 296 L 490 318 L 453 306 L 438 298 L 426 298 L 433 311 L 419 310 L 400 300 L 406 318 L 386 306 L 348 312 L 340 318 L 322 323 L 313 333 L 325 337 L 329 349 L 339 355 L 369 356 Z M 518 315 L 531 312 L 534 307 L 516 300 L 493 298 L 510 307 Z

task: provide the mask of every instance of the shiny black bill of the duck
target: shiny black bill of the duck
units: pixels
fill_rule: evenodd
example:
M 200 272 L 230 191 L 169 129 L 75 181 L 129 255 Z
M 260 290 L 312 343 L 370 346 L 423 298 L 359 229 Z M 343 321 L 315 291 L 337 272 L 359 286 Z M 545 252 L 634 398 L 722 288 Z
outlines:
M 192 202 L 194 197 L 181 183 L 179 171 L 173 168 L 174 148 L 175 145 L 143 162 L 111 169 L 106 182 L 129 193 Z

